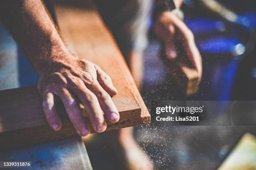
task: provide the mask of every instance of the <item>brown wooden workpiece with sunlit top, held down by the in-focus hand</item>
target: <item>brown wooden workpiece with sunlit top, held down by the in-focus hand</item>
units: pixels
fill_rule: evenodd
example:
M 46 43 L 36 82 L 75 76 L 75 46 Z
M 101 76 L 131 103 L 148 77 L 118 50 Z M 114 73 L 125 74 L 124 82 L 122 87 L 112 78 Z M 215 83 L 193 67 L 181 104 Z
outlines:
M 114 86 L 118 89 L 113 101 L 120 112 L 120 121 L 115 124 L 107 122 L 107 130 L 148 124 L 148 110 L 122 54 L 97 9 L 90 0 L 79 3 L 77 7 L 74 6 L 74 1 L 71 3 L 72 6 L 68 8 L 65 5 L 56 5 L 61 35 L 68 48 L 78 56 L 99 65 L 111 76 Z M 61 106 L 58 107 L 58 112 L 63 127 L 58 132 L 51 130 L 44 117 L 42 99 L 36 86 L 0 91 L 0 96 L 0 150 L 77 135 Z M 84 116 L 91 132 L 94 133 L 86 113 Z

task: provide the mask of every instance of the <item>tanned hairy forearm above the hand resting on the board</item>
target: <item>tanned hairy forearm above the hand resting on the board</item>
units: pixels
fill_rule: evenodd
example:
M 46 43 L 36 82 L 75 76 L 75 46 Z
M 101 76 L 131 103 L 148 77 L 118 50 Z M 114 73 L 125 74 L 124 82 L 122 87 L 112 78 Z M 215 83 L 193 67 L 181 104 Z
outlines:
M 0 17 L 38 74 L 68 52 L 41 0 L 2 0 Z

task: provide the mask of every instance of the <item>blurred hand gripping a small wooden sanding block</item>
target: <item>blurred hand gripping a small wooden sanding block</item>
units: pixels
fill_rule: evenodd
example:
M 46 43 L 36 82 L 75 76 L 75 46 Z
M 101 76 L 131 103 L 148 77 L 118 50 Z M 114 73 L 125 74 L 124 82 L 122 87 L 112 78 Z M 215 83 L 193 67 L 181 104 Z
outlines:
M 198 75 L 202 77 L 202 58 L 195 45 L 194 35 L 187 26 L 177 18 L 172 12 L 165 11 L 158 15 L 154 23 L 156 35 L 164 41 L 165 54 L 167 59 L 172 60 L 178 56 L 177 43 L 182 48 L 198 71 Z

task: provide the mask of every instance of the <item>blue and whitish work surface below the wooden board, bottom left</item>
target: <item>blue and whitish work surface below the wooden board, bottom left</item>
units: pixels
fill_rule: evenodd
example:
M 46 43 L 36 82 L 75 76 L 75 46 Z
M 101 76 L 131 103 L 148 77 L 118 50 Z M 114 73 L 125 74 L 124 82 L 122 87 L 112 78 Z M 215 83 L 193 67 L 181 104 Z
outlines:
M 22 170 L 92 170 L 80 137 L 0 153 L 0 160 L 32 162 L 32 168 L 19 168 Z

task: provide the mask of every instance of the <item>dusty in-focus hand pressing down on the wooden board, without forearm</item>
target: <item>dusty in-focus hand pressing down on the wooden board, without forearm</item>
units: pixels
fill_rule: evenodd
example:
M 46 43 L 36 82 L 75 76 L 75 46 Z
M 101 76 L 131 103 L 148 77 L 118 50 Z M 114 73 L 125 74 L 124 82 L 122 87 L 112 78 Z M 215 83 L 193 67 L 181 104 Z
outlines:
M 38 90 L 43 97 L 46 119 L 54 130 L 61 128 L 61 119 L 56 112 L 54 98 L 58 96 L 69 119 L 81 136 L 90 134 L 79 107 L 84 105 L 96 132 L 105 131 L 107 125 L 103 112 L 110 122 L 118 122 L 119 113 L 110 95 L 117 94 L 110 77 L 99 66 L 69 53 L 51 61 L 47 70 L 39 74 Z

